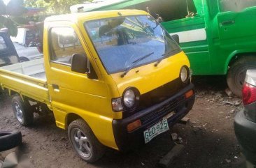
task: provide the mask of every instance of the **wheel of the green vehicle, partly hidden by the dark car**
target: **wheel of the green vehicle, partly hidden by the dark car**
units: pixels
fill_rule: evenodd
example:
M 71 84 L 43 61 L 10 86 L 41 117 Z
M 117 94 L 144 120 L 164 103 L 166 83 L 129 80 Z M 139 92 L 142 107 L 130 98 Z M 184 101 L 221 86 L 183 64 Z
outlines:
M 243 82 L 248 69 L 256 69 L 256 56 L 244 56 L 233 63 L 227 72 L 227 85 L 236 96 L 242 96 Z

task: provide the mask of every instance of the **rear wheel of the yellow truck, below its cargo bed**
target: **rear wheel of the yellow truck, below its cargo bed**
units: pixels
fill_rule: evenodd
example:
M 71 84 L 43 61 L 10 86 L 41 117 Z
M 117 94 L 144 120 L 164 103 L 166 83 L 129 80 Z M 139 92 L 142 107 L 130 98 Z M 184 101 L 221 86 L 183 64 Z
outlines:
M 22 100 L 20 96 L 13 97 L 13 112 L 17 121 L 23 126 L 31 125 L 34 121 L 34 113 L 28 100 Z

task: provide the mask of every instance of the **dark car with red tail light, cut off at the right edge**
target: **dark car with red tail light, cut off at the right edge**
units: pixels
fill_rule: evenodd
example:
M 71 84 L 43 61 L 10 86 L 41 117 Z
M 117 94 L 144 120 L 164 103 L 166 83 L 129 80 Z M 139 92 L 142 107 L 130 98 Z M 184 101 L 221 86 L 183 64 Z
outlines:
M 247 70 L 243 85 L 243 109 L 236 114 L 234 130 L 249 162 L 256 165 L 256 70 Z

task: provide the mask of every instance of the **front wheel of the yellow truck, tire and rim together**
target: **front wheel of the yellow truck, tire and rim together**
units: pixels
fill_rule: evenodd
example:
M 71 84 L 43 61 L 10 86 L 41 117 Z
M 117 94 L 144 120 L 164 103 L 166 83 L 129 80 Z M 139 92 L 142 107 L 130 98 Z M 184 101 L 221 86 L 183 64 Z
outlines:
M 68 134 L 71 146 L 86 162 L 95 162 L 104 155 L 105 146 L 99 142 L 83 119 L 71 122 Z

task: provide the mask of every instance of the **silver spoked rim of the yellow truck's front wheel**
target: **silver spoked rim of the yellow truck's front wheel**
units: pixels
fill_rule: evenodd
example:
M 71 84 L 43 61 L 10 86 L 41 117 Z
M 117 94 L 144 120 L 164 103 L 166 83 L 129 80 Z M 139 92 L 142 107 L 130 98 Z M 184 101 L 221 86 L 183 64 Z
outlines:
M 83 156 L 83 158 L 89 158 L 92 155 L 92 145 L 85 133 L 79 128 L 71 130 L 71 143 L 76 152 Z

